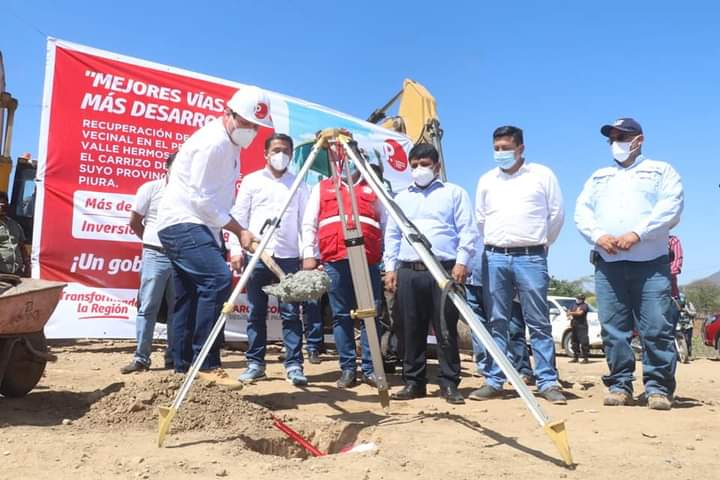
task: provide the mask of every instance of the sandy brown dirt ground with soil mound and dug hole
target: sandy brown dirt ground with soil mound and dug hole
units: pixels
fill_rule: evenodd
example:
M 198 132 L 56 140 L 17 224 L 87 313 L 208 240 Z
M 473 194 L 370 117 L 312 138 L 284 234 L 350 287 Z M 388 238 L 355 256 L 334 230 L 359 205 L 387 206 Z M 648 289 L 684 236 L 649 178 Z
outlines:
M 393 402 L 385 415 L 369 386 L 335 388 L 336 357 L 306 365 L 311 383 L 297 388 L 284 381 L 277 350 L 268 354 L 269 378 L 239 392 L 195 384 L 158 448 L 156 407 L 174 397 L 178 376 L 160 369 L 121 375 L 131 342 L 78 342 L 52 351 L 58 361 L 35 390 L 20 399 L 0 397 L 1 479 L 697 480 L 718 478 L 720 471 L 720 362 L 710 359 L 679 365 L 675 408 L 657 412 L 603 407 L 604 359 L 578 365 L 558 357 L 571 400 L 540 403 L 551 418 L 567 421 L 576 462 L 568 469 L 510 392 L 505 399 L 451 406 L 431 385 L 428 398 Z M 242 353 L 223 355 L 227 370 L 239 374 Z M 464 372 L 469 360 L 463 358 Z M 162 364 L 160 348 L 153 361 Z M 390 378 L 397 389 L 399 376 Z M 461 391 L 467 395 L 481 384 L 466 375 Z M 273 427 L 271 414 L 333 454 L 307 458 Z M 338 453 L 363 442 L 376 448 Z

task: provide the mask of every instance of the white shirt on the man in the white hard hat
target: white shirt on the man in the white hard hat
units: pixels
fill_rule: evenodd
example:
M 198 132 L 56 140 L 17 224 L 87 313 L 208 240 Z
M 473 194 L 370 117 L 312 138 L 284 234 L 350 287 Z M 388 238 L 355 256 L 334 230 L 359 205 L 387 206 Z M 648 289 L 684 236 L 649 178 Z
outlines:
M 179 223 L 207 225 L 220 245 L 220 230 L 230 221 L 240 147 L 230 141 L 222 119 L 205 124 L 175 157 L 160 202 L 157 230 Z

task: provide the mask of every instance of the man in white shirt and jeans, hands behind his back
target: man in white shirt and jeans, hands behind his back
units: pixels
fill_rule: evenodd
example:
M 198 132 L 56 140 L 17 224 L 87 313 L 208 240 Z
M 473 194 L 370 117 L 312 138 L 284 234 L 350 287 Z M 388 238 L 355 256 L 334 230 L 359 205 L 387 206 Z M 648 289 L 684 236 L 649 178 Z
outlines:
M 490 329 L 500 350 L 508 352 L 508 325 L 514 291 L 530 331 L 534 372 L 540 395 L 565 404 L 555 369 L 555 344 L 548 316 L 548 247 L 560 234 L 564 220 L 560 185 L 553 172 L 527 163 L 523 132 L 512 126 L 493 132 L 497 165 L 480 178 L 476 217 L 485 242 L 483 294 Z M 506 378 L 491 357 L 485 385 L 469 396 L 487 400 L 502 396 Z

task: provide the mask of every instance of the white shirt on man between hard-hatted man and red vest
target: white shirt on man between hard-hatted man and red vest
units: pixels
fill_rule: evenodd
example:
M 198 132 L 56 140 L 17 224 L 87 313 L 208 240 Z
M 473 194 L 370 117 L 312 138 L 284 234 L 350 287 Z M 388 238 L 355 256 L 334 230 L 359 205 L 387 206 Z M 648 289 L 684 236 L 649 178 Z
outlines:
M 260 230 L 265 221 L 280 214 L 280 210 L 290 196 L 290 187 L 295 178 L 295 175 L 287 171 L 282 177 L 275 178 L 268 167 L 245 176 L 230 213 L 243 228 L 247 228 L 260 238 Z M 300 184 L 300 188 L 280 220 L 280 226 L 275 230 L 266 247 L 270 255 L 277 258 L 300 257 L 300 229 L 308 195 L 307 185 Z M 235 235 L 230 235 L 228 243 L 230 254 L 240 255 L 242 249 Z

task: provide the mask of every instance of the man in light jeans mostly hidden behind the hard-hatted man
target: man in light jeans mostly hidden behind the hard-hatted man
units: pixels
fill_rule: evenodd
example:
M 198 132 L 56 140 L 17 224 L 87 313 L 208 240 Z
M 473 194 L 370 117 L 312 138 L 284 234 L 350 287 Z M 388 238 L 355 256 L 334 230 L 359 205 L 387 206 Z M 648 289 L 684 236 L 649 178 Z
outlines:
M 167 305 L 167 347 L 165 349 L 165 368 L 173 368 L 172 328 L 170 314 L 175 308 L 175 279 L 173 266 L 165 255 L 165 249 L 157 236 L 158 207 L 162 200 L 170 168 L 175 153 L 168 155 L 165 161 L 167 174 L 146 182 L 135 194 L 135 203 L 130 212 L 130 228 L 142 240 L 142 270 L 140 271 L 140 290 L 138 292 L 135 330 L 137 347 L 132 362 L 120 369 L 120 373 L 144 372 L 150 369 L 155 323 L 163 300 Z

